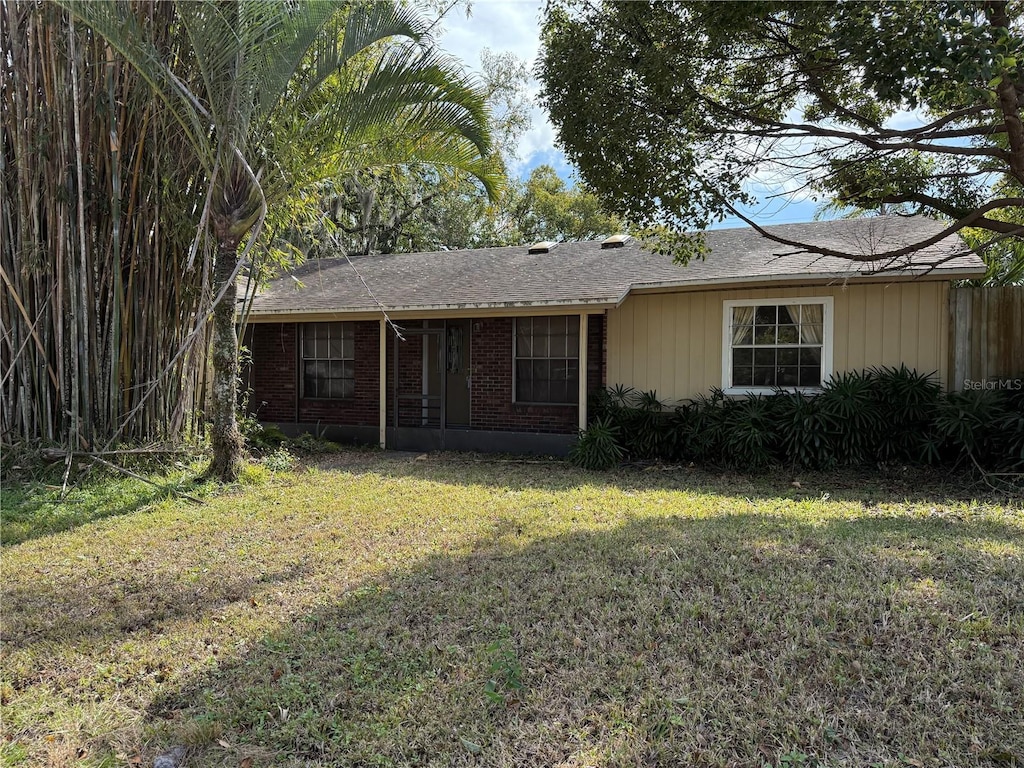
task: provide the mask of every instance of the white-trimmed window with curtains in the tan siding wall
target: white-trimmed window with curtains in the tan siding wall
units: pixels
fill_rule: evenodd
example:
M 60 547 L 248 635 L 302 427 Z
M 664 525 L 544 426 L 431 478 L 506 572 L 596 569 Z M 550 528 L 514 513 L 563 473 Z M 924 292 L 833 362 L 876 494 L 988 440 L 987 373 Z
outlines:
M 725 302 L 726 393 L 816 389 L 831 373 L 831 297 Z

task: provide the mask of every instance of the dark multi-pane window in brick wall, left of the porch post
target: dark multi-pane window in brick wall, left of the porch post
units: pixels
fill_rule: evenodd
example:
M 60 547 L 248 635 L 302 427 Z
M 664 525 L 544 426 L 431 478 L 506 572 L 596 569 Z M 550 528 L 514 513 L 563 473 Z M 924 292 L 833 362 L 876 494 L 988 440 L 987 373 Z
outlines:
M 340 399 L 355 394 L 355 334 L 352 323 L 302 326 L 302 396 Z

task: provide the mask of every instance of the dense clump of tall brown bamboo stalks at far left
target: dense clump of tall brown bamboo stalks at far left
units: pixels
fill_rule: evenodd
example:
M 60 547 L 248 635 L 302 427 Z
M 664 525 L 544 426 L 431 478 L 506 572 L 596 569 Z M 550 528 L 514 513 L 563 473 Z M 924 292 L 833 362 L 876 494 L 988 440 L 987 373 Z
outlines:
M 181 42 L 173 4 L 129 7 L 168 50 Z M 0 163 L 13 166 L 0 174 L 0 431 L 72 446 L 179 437 L 205 361 L 208 275 L 176 258 L 198 170 L 105 43 L 48 3 L 0 14 Z

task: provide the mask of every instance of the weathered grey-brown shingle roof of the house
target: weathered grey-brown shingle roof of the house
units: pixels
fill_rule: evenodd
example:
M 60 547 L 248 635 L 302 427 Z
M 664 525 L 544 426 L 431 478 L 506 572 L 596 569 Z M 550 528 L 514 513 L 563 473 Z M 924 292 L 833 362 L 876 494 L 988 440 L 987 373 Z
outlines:
M 770 228 L 788 240 L 870 256 L 933 237 L 943 225 L 922 217 L 879 216 Z M 519 246 L 312 260 L 271 281 L 252 311 L 357 312 L 377 309 L 378 302 L 392 311 L 615 304 L 631 290 L 653 286 L 857 280 L 882 269 L 901 279 L 936 263 L 933 278 L 984 271 L 981 259 L 955 236 L 887 264 L 795 253 L 749 228 L 716 229 L 706 237 L 706 258 L 685 266 L 635 241 L 604 250 L 600 241 L 561 243 L 539 254 Z

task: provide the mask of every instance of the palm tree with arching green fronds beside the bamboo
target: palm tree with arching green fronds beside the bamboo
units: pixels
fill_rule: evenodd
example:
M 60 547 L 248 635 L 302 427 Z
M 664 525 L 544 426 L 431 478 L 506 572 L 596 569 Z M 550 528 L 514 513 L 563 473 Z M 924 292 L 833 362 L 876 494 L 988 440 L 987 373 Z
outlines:
M 317 176 L 404 162 L 468 172 L 494 196 L 482 94 L 393 2 L 177 2 L 187 47 L 155 42 L 123 3 L 60 0 L 137 69 L 180 126 L 208 181 L 201 227 L 215 242 L 210 474 L 238 476 L 236 279 L 268 208 Z M 210 267 L 211 265 L 207 265 Z

